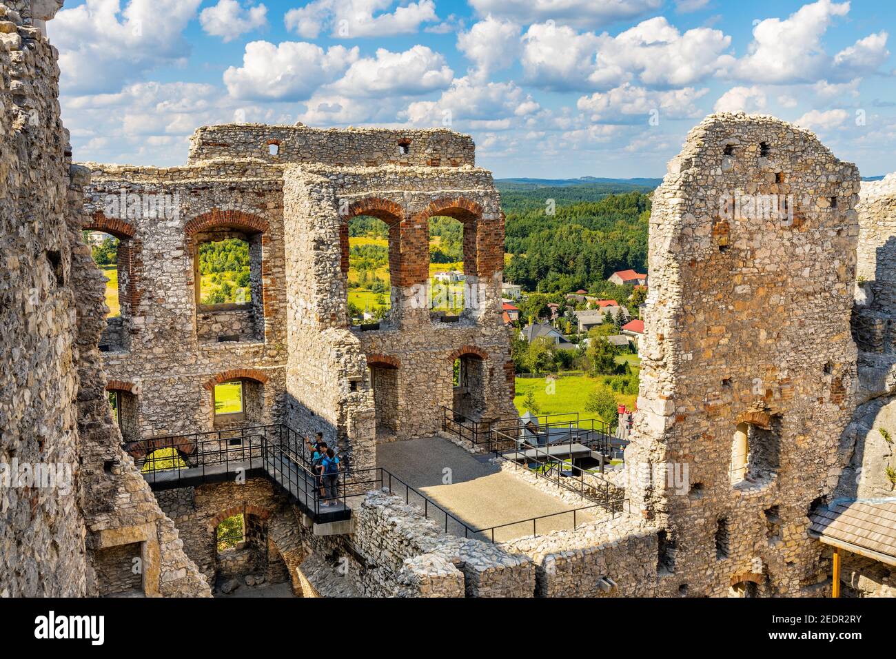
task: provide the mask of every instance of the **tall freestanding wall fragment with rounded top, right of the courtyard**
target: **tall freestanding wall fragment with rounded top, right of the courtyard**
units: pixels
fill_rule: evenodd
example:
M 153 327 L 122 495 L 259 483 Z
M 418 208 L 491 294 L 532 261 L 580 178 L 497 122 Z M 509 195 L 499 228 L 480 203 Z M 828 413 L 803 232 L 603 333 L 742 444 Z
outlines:
M 858 190 L 855 166 L 814 134 L 719 114 L 691 131 L 653 195 L 626 466 L 689 468 L 689 488 L 627 488 L 661 529 L 658 594 L 749 582 L 797 595 L 825 577 L 807 514 L 837 484 L 854 406 Z

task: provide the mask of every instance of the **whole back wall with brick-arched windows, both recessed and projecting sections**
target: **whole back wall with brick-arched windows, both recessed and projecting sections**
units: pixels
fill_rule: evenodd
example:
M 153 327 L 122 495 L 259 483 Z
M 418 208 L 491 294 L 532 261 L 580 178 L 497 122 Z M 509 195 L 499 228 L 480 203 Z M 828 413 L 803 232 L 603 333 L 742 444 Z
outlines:
M 402 157 L 385 157 L 388 145 Z M 453 361 L 465 356 L 482 373 L 470 415 L 515 415 L 500 308 L 504 216 L 472 150 L 469 136 L 445 130 L 228 125 L 199 129 L 184 167 L 85 163 L 83 228 L 117 236 L 125 256 L 122 317 L 108 324 L 104 354 L 110 380 L 134 395 L 139 436 L 218 429 L 206 383 L 229 377 L 251 380 L 261 401 L 241 425 L 321 431 L 350 464 L 373 466 L 377 434 L 440 429 Z M 364 214 L 392 227 L 392 308 L 374 331 L 350 326 L 347 302 L 348 222 Z M 464 225 L 466 308 L 456 322 L 429 309 L 434 215 Z M 250 260 L 258 255 L 251 308 L 199 303 L 196 250 L 222 237 L 246 239 Z M 383 365 L 394 372 L 376 379 L 375 396 L 370 369 Z

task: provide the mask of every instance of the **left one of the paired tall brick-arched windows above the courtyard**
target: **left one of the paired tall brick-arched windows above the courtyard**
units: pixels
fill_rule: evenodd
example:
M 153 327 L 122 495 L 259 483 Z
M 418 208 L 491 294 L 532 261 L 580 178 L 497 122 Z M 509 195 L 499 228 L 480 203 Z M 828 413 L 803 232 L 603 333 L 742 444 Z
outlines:
M 396 235 L 391 235 L 396 234 Z M 351 325 L 375 325 L 392 307 L 390 243 L 396 230 L 369 215 L 349 219 L 348 303 Z

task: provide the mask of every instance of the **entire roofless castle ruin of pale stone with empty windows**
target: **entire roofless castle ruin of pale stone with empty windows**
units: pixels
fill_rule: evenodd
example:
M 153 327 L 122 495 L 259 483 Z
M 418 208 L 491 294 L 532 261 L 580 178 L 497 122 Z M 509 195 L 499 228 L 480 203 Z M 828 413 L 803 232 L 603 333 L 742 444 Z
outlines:
M 186 437 L 274 427 L 323 433 L 363 473 L 378 443 L 438 435 L 444 409 L 485 429 L 515 415 L 490 174 L 451 131 L 306 126 L 202 127 L 182 167 L 73 164 L 40 30 L 60 5 L 0 0 L 0 459 L 61 479 L 4 483 L 0 594 L 207 596 L 261 573 L 306 596 L 823 596 L 846 551 L 838 585 L 892 596 L 892 176 L 860 184 L 773 117 L 707 117 L 654 194 L 639 411 L 608 476 L 623 510 L 484 542 L 360 481 L 331 523 L 257 446 L 237 442 L 245 481 L 141 470 L 153 442 L 192 466 Z M 351 325 L 356 216 L 388 226 L 378 324 Z M 429 304 L 443 216 L 463 224 L 459 316 Z M 82 230 L 120 240 L 108 322 Z M 201 303 L 198 249 L 222 238 L 249 246 L 245 304 Z M 216 413 L 229 382 L 238 419 Z M 234 514 L 245 550 L 216 555 Z

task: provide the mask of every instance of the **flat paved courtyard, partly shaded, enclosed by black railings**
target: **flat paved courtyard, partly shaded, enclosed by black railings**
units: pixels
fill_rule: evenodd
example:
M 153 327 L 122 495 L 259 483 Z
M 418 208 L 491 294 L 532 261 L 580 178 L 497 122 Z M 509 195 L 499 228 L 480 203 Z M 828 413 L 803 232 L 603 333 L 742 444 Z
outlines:
M 538 534 L 573 528 L 573 507 L 511 473 L 500 471 L 487 457 L 470 455 L 444 438 L 412 439 L 376 448 L 376 464 L 422 492 L 457 517 L 470 529 L 506 525 L 543 515 L 564 513 L 538 520 Z M 385 483 L 388 485 L 388 483 Z M 393 484 L 392 491 L 405 495 L 405 489 Z M 413 492 L 409 502 L 426 507 Z M 588 506 L 587 499 L 582 506 Z M 445 526 L 445 516 L 428 507 L 428 516 Z M 577 524 L 592 521 L 590 511 L 575 514 Z M 463 536 L 462 525 L 448 519 L 449 533 Z M 532 523 L 520 523 L 495 530 L 495 541 L 505 542 L 532 533 Z M 490 538 L 491 533 L 487 536 Z

